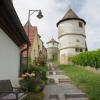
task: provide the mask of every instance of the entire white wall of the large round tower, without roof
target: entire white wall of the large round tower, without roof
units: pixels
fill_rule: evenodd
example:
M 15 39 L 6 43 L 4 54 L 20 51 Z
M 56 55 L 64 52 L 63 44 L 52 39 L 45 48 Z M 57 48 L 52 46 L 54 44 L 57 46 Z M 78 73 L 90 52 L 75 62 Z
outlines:
M 79 27 L 79 22 L 82 27 Z M 80 20 L 66 20 L 58 25 L 60 63 L 69 63 L 69 56 L 77 54 L 75 48 L 86 48 L 85 45 L 85 25 Z

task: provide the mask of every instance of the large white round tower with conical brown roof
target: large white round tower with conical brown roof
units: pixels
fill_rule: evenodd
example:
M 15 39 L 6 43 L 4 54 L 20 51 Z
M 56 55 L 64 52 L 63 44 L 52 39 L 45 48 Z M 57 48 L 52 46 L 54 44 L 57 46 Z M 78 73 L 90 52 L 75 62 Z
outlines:
M 72 9 L 57 23 L 61 64 L 68 64 L 70 56 L 87 50 L 85 24 Z

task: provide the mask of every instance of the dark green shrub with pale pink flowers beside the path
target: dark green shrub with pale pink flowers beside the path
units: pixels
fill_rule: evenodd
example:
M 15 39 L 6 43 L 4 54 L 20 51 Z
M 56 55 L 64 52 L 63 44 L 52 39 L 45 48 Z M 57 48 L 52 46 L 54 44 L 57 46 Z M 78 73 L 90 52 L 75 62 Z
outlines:
M 32 67 L 29 66 L 27 72 L 22 74 L 20 85 L 22 88 L 27 89 L 29 92 L 40 92 L 44 89 L 46 78 L 46 67 Z

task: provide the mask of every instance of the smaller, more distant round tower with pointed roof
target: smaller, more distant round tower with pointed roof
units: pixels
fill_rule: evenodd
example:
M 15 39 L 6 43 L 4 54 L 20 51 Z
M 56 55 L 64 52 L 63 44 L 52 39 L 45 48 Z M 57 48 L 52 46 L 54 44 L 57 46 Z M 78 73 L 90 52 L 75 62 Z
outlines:
M 47 42 L 47 59 L 48 61 L 56 61 L 58 60 L 58 42 L 52 38 Z

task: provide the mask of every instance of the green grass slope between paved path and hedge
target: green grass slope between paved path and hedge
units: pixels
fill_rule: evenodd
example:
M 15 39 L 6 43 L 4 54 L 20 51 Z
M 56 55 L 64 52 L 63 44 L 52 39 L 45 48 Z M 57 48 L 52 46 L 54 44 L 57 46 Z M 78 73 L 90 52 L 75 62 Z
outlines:
M 72 81 L 87 93 L 89 100 L 100 100 L 100 74 L 74 65 L 59 65 Z

